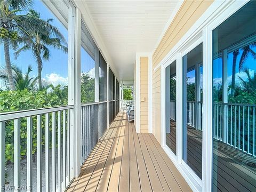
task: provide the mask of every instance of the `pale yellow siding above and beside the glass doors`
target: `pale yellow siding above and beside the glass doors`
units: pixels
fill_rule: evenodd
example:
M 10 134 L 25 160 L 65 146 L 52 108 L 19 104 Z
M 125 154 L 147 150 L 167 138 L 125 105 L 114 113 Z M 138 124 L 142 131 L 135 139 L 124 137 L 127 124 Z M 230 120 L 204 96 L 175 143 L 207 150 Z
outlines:
M 153 133 L 161 143 L 161 68 L 154 71 L 213 1 L 185 1 L 153 54 Z

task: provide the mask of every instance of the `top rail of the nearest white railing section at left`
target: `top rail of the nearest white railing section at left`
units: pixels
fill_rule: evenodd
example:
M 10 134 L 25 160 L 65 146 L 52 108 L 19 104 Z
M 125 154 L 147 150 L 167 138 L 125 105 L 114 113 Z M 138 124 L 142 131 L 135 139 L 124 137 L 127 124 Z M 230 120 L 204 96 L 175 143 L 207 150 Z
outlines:
M 35 115 L 40 115 L 40 114 L 52 113 L 52 112 L 56 112 L 56 111 L 60 111 L 60 110 L 67 110 L 67 109 L 74 109 L 74 105 L 11 111 L 11 112 L 7 112 L 7 113 L 1 113 L 0 114 L 0 122 L 10 121 L 12 119 L 35 116 Z

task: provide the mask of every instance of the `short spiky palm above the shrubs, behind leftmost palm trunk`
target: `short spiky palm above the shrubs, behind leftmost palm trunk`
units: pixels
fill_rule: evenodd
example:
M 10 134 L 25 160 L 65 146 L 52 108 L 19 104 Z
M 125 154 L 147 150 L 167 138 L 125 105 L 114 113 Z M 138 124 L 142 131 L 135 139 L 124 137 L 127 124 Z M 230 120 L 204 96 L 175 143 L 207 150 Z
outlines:
M 22 73 L 22 70 L 18 66 L 12 65 L 11 67 L 13 71 L 13 79 L 14 79 L 14 85 L 16 90 L 25 90 L 25 89 L 31 90 L 34 88 L 37 77 L 33 78 L 29 76 L 29 74 L 32 71 L 32 67 L 30 65 L 28 66 L 25 74 Z M 7 75 L 6 69 L 3 69 L 3 68 L 1 69 L 0 79 L 5 81 L 6 87 L 9 88 L 10 82 L 9 82 L 9 77 Z

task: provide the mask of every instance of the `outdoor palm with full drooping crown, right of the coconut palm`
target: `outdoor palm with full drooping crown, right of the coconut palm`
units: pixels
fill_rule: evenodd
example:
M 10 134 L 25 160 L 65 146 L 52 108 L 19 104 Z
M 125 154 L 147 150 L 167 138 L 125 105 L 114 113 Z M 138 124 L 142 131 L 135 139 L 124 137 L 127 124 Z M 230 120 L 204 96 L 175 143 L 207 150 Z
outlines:
M 59 29 L 51 25 L 53 19 L 41 19 L 40 14 L 35 10 L 29 10 L 27 16 L 28 17 L 22 18 L 22 22 L 26 23 L 29 35 L 25 38 L 26 43 L 16 51 L 14 55 L 15 58 L 17 58 L 22 51 L 32 51 L 37 61 L 38 87 L 39 89 L 42 89 L 42 57 L 45 60 L 50 59 L 49 47 L 53 47 L 54 49 L 59 49 L 67 53 L 67 42 Z M 35 27 L 35 25 L 37 27 Z

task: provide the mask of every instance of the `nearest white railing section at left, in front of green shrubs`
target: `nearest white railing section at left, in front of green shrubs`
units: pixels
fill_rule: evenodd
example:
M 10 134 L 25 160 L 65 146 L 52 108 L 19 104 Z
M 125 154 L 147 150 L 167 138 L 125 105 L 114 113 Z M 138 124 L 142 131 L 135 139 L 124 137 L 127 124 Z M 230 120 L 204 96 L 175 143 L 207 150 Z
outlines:
M 62 191 L 68 186 L 73 179 L 70 178 L 71 157 L 69 155 L 70 113 L 72 110 L 74 110 L 74 106 L 63 106 L 1 114 L 0 186 L 2 191 L 4 191 L 4 187 L 6 190 L 12 187 L 12 190 L 17 191 L 25 189 Z M 14 179 L 13 183 L 9 183 L 9 185 L 5 185 L 5 136 L 12 133 L 6 133 L 5 127 L 7 126 L 12 126 L 14 130 Z M 35 135 L 36 138 L 33 138 Z M 43 136 L 44 141 L 42 141 Z M 26 139 L 25 146 L 21 145 L 21 139 Z M 24 143 L 24 141 L 22 142 Z M 33 148 L 33 146 L 35 147 Z M 26 155 L 21 156 L 21 148 L 23 147 L 26 148 Z M 33 153 L 33 151 L 36 152 Z M 36 156 L 36 167 L 34 167 L 33 156 Z M 25 158 L 26 177 L 25 174 L 21 175 L 21 159 L 23 161 Z M 36 177 L 33 175 L 35 169 Z M 44 178 L 42 178 L 42 173 L 45 173 Z

